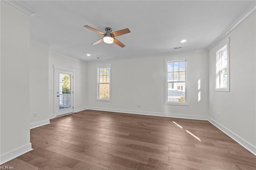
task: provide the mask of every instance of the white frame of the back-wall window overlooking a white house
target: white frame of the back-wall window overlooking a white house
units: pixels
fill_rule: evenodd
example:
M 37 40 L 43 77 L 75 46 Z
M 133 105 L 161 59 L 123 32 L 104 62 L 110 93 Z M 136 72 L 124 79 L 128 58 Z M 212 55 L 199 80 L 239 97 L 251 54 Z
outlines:
M 168 101 L 168 62 L 186 61 L 185 73 L 185 102 L 169 102 Z M 169 57 L 164 59 L 164 105 L 190 105 L 190 83 L 189 83 L 189 57 Z

